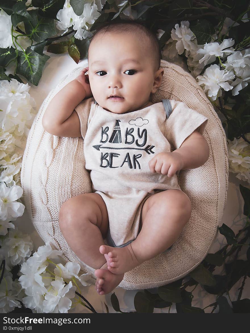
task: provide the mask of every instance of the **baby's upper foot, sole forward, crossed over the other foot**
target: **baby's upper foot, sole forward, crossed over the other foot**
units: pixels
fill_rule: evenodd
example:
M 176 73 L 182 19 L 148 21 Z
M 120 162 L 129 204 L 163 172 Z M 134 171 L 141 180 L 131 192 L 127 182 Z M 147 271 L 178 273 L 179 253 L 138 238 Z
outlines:
M 128 272 L 142 263 L 136 258 L 130 244 L 124 247 L 101 245 L 99 250 L 104 254 L 107 268 L 113 274 Z

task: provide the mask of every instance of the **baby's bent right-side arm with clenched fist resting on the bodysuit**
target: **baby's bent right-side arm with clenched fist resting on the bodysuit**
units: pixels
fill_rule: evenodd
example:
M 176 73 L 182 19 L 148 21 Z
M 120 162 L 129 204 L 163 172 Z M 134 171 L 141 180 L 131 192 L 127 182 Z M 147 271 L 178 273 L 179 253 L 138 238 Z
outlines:
M 202 166 L 209 157 L 209 147 L 203 136 L 195 130 L 184 140 L 181 147 L 172 153 L 159 153 L 150 162 L 151 172 L 167 174 L 168 177 L 182 169 Z

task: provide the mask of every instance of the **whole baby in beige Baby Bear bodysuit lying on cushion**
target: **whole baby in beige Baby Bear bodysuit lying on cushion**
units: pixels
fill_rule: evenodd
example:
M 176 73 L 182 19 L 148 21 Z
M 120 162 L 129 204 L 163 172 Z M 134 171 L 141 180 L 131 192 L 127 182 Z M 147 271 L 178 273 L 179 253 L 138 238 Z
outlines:
M 106 24 L 91 40 L 88 67 L 43 116 L 47 132 L 84 139 L 93 193 L 65 201 L 59 224 L 95 269 L 100 295 L 177 240 L 191 215 L 177 173 L 209 156 L 201 134 L 207 118 L 183 102 L 150 101 L 164 74 L 160 59 L 157 38 L 144 26 Z

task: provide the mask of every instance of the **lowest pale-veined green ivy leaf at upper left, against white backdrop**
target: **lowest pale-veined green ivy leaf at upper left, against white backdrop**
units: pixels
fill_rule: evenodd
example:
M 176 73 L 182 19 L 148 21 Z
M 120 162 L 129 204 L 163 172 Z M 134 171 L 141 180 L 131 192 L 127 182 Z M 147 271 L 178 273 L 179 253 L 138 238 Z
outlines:
M 38 85 L 44 65 L 50 57 L 41 55 L 31 49 L 27 48 L 25 53 L 18 51 L 18 66 L 16 73 L 23 75 L 29 82 Z

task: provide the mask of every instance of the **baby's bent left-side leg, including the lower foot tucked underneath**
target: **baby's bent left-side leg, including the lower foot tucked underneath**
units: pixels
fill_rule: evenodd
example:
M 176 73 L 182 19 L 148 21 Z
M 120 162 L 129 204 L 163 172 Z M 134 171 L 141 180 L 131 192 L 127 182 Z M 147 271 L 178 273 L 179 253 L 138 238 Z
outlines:
M 108 271 L 105 257 L 99 251 L 108 230 L 108 212 L 102 197 L 85 193 L 68 199 L 60 209 L 59 225 L 77 257 L 90 267 L 102 268 L 97 277 L 97 292 L 102 295 L 112 291 L 124 274 L 114 275 Z

